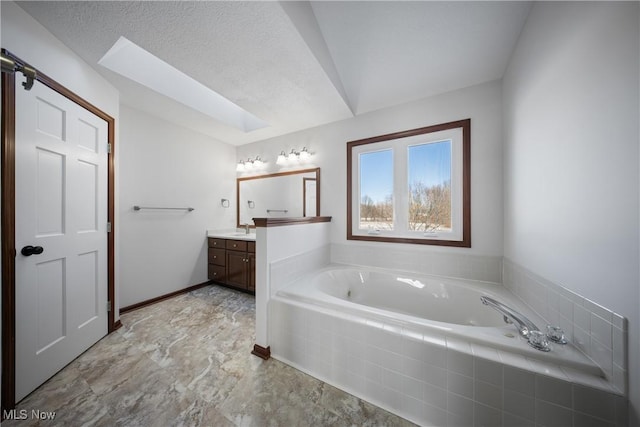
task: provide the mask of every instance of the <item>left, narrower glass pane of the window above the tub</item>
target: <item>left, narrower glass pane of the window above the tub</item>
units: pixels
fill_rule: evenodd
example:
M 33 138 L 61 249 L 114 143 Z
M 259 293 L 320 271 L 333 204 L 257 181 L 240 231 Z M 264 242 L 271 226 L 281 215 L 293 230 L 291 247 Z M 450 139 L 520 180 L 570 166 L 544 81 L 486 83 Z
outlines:
M 393 152 L 360 154 L 361 230 L 393 230 Z

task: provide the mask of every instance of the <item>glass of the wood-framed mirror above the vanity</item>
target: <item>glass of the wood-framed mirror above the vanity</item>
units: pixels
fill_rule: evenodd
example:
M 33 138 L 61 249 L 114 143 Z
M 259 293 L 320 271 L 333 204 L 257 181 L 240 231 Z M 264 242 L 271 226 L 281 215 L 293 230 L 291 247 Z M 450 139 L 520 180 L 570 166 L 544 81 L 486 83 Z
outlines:
M 320 168 L 241 177 L 237 185 L 237 227 L 253 218 L 320 216 Z

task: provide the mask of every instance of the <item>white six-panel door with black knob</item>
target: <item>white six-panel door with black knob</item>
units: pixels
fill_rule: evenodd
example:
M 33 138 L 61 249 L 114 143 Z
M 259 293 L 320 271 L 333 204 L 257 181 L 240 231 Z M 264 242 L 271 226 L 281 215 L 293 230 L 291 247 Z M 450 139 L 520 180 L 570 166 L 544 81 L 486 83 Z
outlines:
M 16 79 L 15 135 L 19 401 L 107 334 L 107 123 Z

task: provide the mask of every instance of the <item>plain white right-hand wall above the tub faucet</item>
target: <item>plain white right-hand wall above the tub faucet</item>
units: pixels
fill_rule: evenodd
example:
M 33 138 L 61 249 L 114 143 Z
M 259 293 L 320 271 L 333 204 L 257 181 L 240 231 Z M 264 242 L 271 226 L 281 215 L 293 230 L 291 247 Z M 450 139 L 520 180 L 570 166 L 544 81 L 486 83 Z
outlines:
M 636 417 L 638 28 L 636 2 L 535 3 L 503 87 L 505 258 L 628 318 Z

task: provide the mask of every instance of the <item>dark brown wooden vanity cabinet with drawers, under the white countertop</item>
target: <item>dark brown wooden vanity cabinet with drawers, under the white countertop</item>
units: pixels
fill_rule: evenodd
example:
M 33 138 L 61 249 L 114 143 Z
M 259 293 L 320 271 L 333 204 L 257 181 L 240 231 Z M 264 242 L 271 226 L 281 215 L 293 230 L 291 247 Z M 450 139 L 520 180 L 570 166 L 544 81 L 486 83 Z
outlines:
M 209 280 L 255 293 L 256 243 L 209 237 Z

